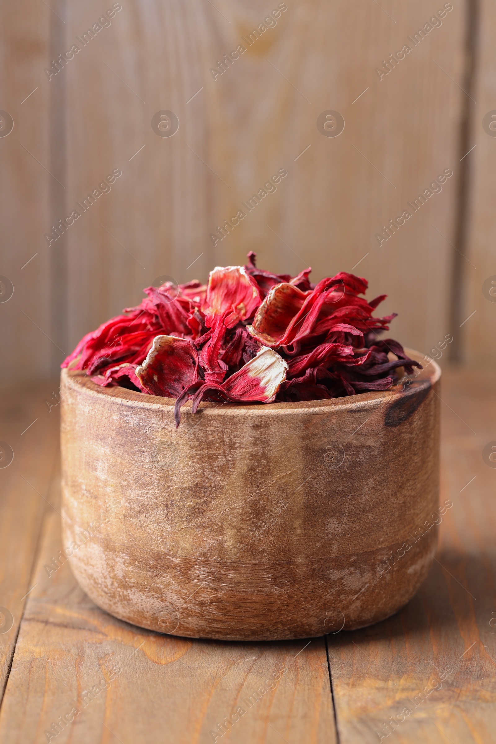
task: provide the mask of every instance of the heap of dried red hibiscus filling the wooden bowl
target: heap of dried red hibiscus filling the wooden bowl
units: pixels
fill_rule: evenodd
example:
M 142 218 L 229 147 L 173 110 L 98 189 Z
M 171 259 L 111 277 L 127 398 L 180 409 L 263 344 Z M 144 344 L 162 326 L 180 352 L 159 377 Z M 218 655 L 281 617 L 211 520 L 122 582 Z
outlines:
M 199 281 L 147 287 L 138 307 L 86 334 L 62 367 L 86 370 L 98 385 L 231 403 L 320 400 L 387 390 L 396 369 L 418 362 L 398 341 L 379 339 L 395 317 L 374 318 L 384 300 L 358 295 L 367 280 L 340 272 L 314 285 L 247 266 L 216 267 Z M 391 352 L 391 359 L 387 354 Z

